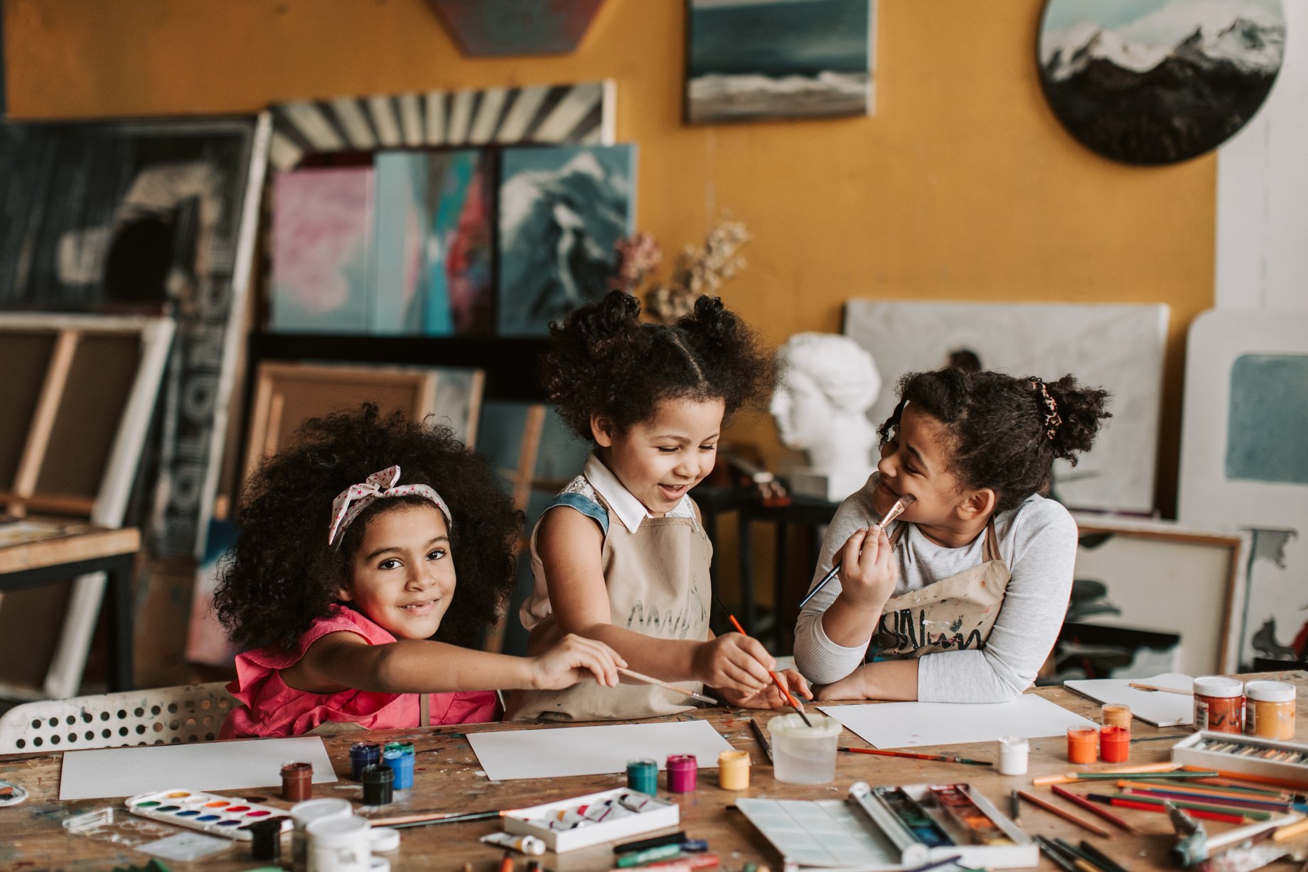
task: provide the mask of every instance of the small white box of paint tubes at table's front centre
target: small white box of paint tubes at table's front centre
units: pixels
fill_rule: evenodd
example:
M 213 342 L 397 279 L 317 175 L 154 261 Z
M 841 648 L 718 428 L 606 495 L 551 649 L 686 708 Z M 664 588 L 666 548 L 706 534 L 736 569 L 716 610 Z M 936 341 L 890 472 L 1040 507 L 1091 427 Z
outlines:
M 504 829 L 515 835 L 535 835 L 547 848 L 561 854 L 676 826 L 680 820 L 681 809 L 675 803 L 619 787 L 519 808 L 504 816 Z

